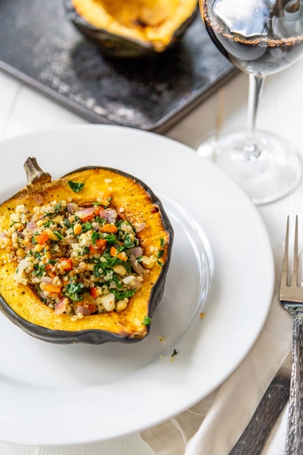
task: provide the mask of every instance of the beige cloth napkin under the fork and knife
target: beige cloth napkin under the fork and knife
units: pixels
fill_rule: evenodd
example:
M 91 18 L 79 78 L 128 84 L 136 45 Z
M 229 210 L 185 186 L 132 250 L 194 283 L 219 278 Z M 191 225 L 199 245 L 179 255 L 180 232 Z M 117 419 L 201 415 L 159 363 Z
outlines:
M 239 367 L 220 387 L 188 411 L 140 433 L 156 455 L 227 455 L 244 431 L 291 348 L 292 319 L 277 297 L 281 261 L 279 248 L 276 258 L 278 279 L 267 321 Z M 284 453 L 286 411 L 263 450 L 266 455 Z

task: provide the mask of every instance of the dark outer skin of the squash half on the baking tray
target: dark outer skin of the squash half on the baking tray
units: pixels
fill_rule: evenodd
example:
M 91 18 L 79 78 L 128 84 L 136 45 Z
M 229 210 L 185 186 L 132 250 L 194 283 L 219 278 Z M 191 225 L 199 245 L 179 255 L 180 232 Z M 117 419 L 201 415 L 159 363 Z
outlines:
M 72 0 L 64 0 L 64 7 L 67 20 L 73 23 L 86 38 L 95 42 L 106 57 L 122 59 L 155 57 L 170 50 L 184 35 L 198 12 L 197 7 L 193 11 L 190 10 L 188 17 L 172 33 L 169 42 L 157 49 L 155 43 L 151 41 L 141 40 L 139 37 L 123 36 L 117 32 L 112 33 L 106 26 L 100 28 L 94 26 L 76 11 Z M 140 28 L 139 25 L 138 28 Z

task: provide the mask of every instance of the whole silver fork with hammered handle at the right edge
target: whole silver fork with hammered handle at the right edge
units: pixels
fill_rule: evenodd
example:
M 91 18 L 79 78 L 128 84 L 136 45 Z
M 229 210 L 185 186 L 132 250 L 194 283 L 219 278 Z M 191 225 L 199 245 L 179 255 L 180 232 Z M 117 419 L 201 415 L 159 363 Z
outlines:
M 298 217 L 295 219 L 293 265 L 288 267 L 289 216 L 282 266 L 280 302 L 293 319 L 292 364 L 285 455 L 303 453 L 303 287 L 298 279 Z M 288 282 L 288 277 L 291 278 Z

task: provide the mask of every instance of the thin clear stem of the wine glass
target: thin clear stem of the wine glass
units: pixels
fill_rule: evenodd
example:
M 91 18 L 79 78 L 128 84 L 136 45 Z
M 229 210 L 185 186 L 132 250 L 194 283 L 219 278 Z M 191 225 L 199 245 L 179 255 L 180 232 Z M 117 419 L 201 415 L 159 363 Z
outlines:
M 258 105 L 262 95 L 265 76 L 249 74 L 248 92 L 248 125 L 245 143 L 237 148 L 237 159 L 241 161 L 256 161 L 261 150 L 256 143 L 256 118 Z

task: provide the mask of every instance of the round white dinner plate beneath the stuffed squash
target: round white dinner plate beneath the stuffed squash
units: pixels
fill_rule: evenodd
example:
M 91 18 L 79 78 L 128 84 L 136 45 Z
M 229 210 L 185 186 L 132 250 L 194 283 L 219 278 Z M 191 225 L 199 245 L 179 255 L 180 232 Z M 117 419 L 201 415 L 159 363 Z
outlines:
M 228 176 L 182 144 L 118 126 L 17 136 L 2 141 L 0 153 L 1 200 L 25 186 L 28 156 L 54 178 L 85 165 L 113 167 L 160 196 L 175 230 L 164 297 L 139 343 L 49 344 L 0 313 L 0 440 L 60 445 L 140 431 L 186 410 L 234 371 L 266 320 L 274 266 L 255 206 Z

